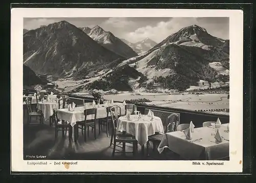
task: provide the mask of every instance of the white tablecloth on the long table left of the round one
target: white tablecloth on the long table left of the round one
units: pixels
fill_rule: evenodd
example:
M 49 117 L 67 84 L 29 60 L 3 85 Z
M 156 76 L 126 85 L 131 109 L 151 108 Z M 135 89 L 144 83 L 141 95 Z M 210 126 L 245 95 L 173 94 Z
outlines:
M 125 109 L 122 103 L 114 103 L 113 105 L 118 105 L 121 107 L 121 115 L 124 115 Z M 88 106 L 87 109 L 93 108 L 92 106 Z M 84 107 L 76 107 L 74 111 L 69 111 L 67 108 L 59 109 L 58 119 L 65 120 L 71 124 L 71 126 L 75 126 L 77 121 L 84 121 Z M 100 107 L 97 107 L 97 119 L 105 118 L 106 117 L 106 108 L 103 104 Z M 89 115 L 87 117 L 88 120 L 94 119 L 94 115 Z

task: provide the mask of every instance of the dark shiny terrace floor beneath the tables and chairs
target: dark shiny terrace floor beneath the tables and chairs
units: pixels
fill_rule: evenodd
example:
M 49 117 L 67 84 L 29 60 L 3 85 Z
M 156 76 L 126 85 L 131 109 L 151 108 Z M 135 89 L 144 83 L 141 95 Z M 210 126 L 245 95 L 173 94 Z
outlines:
M 142 155 L 141 147 L 138 145 L 138 154 L 133 156 L 132 153 L 115 153 L 115 157 L 112 157 L 113 145 L 110 146 L 111 135 L 106 136 L 105 129 L 102 129 L 100 134 L 97 131 L 97 139 L 94 139 L 93 132 L 90 132 L 90 136 L 87 142 L 84 142 L 83 135 L 79 130 L 79 138 L 75 143 L 73 139 L 69 140 L 69 136 L 62 137 L 61 132 L 58 132 L 58 138 L 55 142 L 55 127 L 49 126 L 49 121 L 45 121 L 44 124 L 39 124 L 39 120 L 36 121 L 35 117 L 32 117 L 31 123 L 27 124 L 27 116 L 24 116 L 24 159 L 27 155 L 43 155 L 46 159 L 54 160 L 75 160 L 75 159 L 94 159 L 94 160 L 107 160 L 107 159 L 150 159 L 150 160 L 179 160 L 179 155 L 167 151 L 161 155 L 157 152 L 153 152 L 153 145 L 150 146 L 149 156 Z M 97 125 L 98 127 L 98 125 Z M 117 144 L 118 145 L 118 144 Z M 121 146 L 121 144 L 119 144 Z M 121 148 L 116 147 L 116 151 L 121 152 Z M 126 143 L 126 152 L 132 152 L 132 145 Z M 146 154 L 146 147 L 144 154 Z

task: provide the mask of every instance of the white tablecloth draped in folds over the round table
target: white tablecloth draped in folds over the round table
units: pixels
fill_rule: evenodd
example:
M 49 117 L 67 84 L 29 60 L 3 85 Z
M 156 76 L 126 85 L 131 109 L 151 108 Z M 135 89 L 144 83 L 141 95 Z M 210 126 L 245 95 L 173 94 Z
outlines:
M 147 142 L 147 137 L 159 132 L 164 134 L 162 120 L 155 117 L 151 121 L 151 117 L 142 115 L 141 119 L 136 119 L 135 115 L 131 115 L 131 121 L 126 117 L 120 117 L 117 125 L 118 131 L 126 131 L 135 136 L 135 139 L 142 146 Z

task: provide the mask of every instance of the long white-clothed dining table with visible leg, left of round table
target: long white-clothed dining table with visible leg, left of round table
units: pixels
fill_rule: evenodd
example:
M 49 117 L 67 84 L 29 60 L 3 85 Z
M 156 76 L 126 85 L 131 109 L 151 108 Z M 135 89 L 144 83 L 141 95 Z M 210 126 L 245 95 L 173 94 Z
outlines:
M 121 115 L 124 115 L 125 108 L 122 103 L 115 102 L 113 104 L 110 104 L 109 106 L 118 105 L 121 108 Z M 91 105 L 91 103 L 86 103 L 86 106 L 79 106 L 75 107 L 73 111 L 70 111 L 68 108 L 62 108 L 57 110 L 57 115 L 59 120 L 66 121 L 67 123 L 70 123 L 70 125 L 74 128 L 74 141 L 77 141 L 78 138 L 78 126 L 76 125 L 76 122 L 84 121 L 84 110 L 85 109 L 91 109 L 91 108 L 97 108 L 97 116 L 96 119 L 102 119 L 106 118 L 106 106 L 104 104 L 98 105 Z M 87 120 L 94 119 L 94 115 L 88 115 Z M 100 130 L 100 129 L 99 129 Z

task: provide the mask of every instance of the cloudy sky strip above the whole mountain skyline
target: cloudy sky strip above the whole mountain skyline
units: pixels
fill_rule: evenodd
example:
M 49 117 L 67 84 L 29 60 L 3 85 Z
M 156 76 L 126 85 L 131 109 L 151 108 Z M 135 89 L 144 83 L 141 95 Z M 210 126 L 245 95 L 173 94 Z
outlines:
M 100 26 L 116 37 L 130 42 L 150 38 L 159 43 L 183 27 L 198 25 L 212 36 L 229 39 L 228 17 L 63 17 L 24 18 L 24 29 L 36 29 L 54 22 L 66 20 L 76 27 Z

